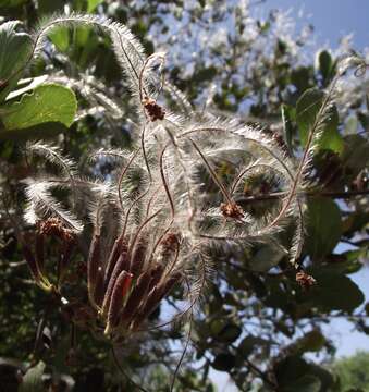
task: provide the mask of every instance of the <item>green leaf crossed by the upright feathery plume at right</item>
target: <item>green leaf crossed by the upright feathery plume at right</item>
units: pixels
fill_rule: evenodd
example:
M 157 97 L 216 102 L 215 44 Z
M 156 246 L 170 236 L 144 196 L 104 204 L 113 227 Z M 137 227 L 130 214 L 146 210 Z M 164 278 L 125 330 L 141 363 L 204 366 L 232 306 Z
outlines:
M 323 99 L 323 91 L 317 88 L 309 88 L 297 101 L 296 120 L 303 146 L 307 143 L 309 132 L 316 122 Z M 333 106 L 324 120 L 322 135 L 319 139 L 319 148 L 331 149 L 335 152 L 343 150 L 343 139 L 337 131 L 337 126 L 339 113 L 336 107 Z

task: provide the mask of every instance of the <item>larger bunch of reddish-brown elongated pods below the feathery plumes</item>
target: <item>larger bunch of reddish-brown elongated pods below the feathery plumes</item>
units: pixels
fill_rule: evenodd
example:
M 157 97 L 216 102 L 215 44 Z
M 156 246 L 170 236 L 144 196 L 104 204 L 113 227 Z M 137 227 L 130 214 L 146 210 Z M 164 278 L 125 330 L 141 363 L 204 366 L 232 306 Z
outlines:
M 167 241 L 173 237 L 168 235 Z M 87 262 L 89 299 L 104 323 L 104 334 L 119 336 L 139 329 L 172 287 L 181 282 L 182 273 L 161 262 L 146 262 L 148 247 L 140 240 L 133 249 L 120 235 L 103 260 L 101 237 L 90 243 Z M 171 250 L 165 248 L 165 253 Z M 99 283 L 100 282 L 100 283 Z

